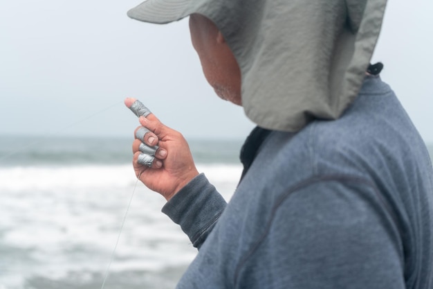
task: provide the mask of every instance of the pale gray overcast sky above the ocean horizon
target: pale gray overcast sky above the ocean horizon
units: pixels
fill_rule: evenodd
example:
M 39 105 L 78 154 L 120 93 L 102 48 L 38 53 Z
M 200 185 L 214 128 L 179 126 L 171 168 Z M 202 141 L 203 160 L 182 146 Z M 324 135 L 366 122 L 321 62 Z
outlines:
M 138 3 L 1 0 L 0 134 L 131 136 L 138 123 L 122 104 L 130 96 L 186 137 L 246 137 L 253 125 L 241 107 L 205 82 L 187 20 L 129 19 Z M 428 143 L 432 15 L 431 0 L 389 0 L 374 55 Z

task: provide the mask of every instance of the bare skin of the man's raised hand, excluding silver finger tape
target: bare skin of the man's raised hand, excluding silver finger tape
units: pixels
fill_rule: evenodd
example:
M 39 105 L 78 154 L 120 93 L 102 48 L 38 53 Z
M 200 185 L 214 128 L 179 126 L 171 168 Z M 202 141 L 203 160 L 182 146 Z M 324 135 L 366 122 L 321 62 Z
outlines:
M 131 107 L 135 101 L 135 98 L 127 98 L 125 105 Z M 148 113 L 145 114 L 146 117 L 140 116 L 139 121 L 142 126 L 134 132 L 135 136 L 136 132 L 143 127 L 150 131 L 144 135 L 143 139 L 136 137 L 133 141 L 132 164 L 138 179 L 152 191 L 163 195 L 168 201 L 191 179 L 199 175 L 199 172 L 183 135 L 163 125 L 154 114 Z M 138 163 L 138 157 L 142 154 L 139 148 L 141 143 L 147 146 L 159 146 L 151 167 Z

